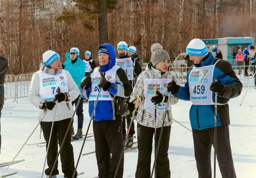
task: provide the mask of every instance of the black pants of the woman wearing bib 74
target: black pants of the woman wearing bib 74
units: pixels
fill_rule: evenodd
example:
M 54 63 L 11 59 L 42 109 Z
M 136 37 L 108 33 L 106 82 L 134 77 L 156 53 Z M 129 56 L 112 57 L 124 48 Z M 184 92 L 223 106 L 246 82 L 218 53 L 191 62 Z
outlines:
M 67 127 L 70 123 L 70 120 L 71 118 L 67 118 L 62 121 L 55 121 L 53 124 L 50 147 L 47 154 L 48 168 L 45 170 L 46 175 L 50 175 L 51 173 L 51 170 L 53 168 L 52 166 L 58 154 L 58 144 L 61 146 L 67 131 Z M 43 137 L 45 137 L 45 140 L 46 140 L 46 149 L 47 149 L 49 145 L 52 122 L 41 122 L 40 124 L 43 130 Z M 68 135 L 63 144 L 60 155 L 61 155 L 62 172 L 64 173 L 65 177 L 71 178 L 73 175 L 73 171 L 75 171 L 73 147 L 71 145 L 71 130 L 68 131 Z M 57 175 L 57 174 L 58 174 L 58 164 L 56 164 L 56 166 L 54 167 L 52 175 Z M 77 172 L 75 177 L 77 177 Z

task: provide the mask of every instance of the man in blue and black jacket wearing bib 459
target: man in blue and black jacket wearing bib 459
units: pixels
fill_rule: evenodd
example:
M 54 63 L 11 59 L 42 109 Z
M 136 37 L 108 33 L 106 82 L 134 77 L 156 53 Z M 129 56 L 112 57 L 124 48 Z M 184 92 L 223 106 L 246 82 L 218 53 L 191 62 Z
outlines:
M 211 146 L 214 145 L 215 102 L 217 106 L 216 157 L 221 176 L 234 178 L 235 169 L 229 140 L 230 98 L 240 95 L 242 83 L 232 66 L 225 60 L 215 58 L 208 52 L 205 43 L 192 39 L 186 47 L 194 65 L 190 67 L 185 86 L 175 81 L 168 83 L 168 91 L 181 100 L 190 100 L 190 124 L 192 127 L 196 167 L 199 177 L 211 177 Z M 215 101 L 217 93 L 217 101 Z

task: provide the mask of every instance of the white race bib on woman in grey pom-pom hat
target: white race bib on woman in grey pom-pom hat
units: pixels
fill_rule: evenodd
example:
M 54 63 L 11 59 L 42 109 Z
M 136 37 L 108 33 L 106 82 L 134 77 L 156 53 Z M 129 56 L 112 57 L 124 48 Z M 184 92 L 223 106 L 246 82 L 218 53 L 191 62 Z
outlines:
M 151 98 L 155 96 L 154 87 L 157 87 L 157 90 L 169 96 L 169 92 L 167 91 L 167 85 L 171 82 L 171 78 L 152 78 L 152 79 L 145 79 L 144 80 L 144 93 L 145 93 L 145 104 L 144 108 L 146 111 L 150 113 L 155 112 L 155 105 L 152 103 Z M 156 106 L 157 112 L 164 112 L 166 110 L 167 103 L 159 103 Z M 168 110 L 170 110 L 171 106 L 169 105 Z

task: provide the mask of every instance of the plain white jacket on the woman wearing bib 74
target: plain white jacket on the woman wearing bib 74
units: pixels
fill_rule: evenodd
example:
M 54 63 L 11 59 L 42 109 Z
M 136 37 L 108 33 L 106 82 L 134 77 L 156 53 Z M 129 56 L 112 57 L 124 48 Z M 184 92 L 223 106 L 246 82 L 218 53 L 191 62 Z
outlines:
M 42 120 L 43 122 L 52 122 L 53 118 L 55 116 L 54 121 L 61 121 L 65 120 L 66 118 L 71 118 L 73 116 L 73 107 L 72 107 L 72 101 L 75 100 L 78 95 L 80 94 L 80 90 L 78 89 L 75 81 L 71 77 L 70 73 L 66 70 L 62 70 L 61 72 L 65 72 L 67 76 L 67 83 L 68 83 L 68 94 L 69 101 L 68 102 L 56 102 L 56 105 L 53 107 L 52 110 L 43 110 L 40 108 L 42 106 L 42 103 L 45 102 L 42 100 L 39 94 L 40 89 L 40 76 L 39 72 L 33 74 L 29 91 L 28 91 L 28 100 L 35 105 L 38 108 L 38 120 Z M 57 109 L 57 110 L 56 110 Z M 47 111 L 47 113 L 46 113 Z M 55 114 L 56 111 L 56 114 Z

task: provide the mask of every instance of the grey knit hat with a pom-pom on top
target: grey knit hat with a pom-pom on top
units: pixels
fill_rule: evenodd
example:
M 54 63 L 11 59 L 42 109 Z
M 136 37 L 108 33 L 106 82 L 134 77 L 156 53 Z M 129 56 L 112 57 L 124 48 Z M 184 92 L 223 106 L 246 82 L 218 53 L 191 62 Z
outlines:
M 154 67 L 155 67 L 155 65 L 157 63 L 159 63 L 162 60 L 169 60 L 169 61 L 171 61 L 168 52 L 166 52 L 163 49 L 163 46 L 160 45 L 159 43 L 154 43 L 151 46 L 151 52 L 152 52 L 152 54 L 151 54 L 150 62 L 152 63 L 152 65 Z

